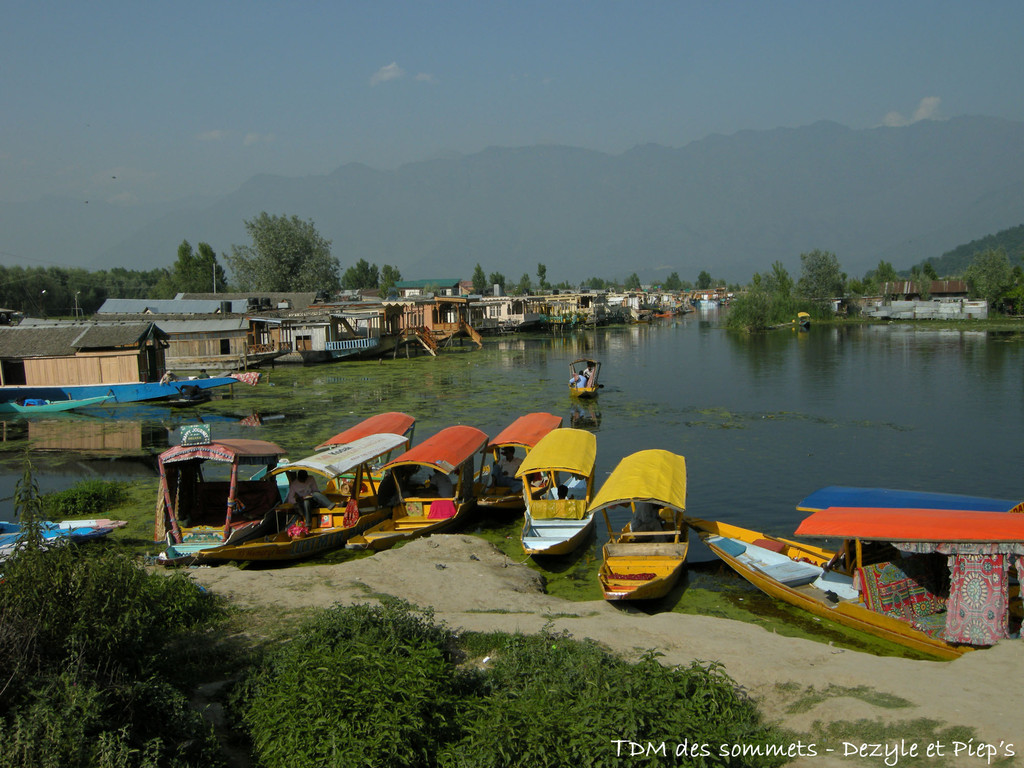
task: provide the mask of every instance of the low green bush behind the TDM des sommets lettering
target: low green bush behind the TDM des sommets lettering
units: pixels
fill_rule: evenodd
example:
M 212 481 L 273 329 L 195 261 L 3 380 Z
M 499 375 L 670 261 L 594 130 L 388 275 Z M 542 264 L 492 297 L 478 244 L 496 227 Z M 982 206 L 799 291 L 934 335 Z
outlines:
M 750 700 L 712 665 L 664 667 L 648 652 L 626 662 L 590 641 L 566 636 L 507 637 L 494 652 L 465 734 L 440 762 L 482 766 L 620 766 L 628 743 L 665 744 L 658 765 L 770 766 L 784 760 L 732 758 L 721 744 L 781 745 Z M 708 756 L 677 755 L 683 742 Z

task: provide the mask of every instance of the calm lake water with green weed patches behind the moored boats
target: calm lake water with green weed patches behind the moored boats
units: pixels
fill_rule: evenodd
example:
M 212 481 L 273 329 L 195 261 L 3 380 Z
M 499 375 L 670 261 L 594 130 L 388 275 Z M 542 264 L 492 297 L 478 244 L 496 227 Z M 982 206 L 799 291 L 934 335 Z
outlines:
M 417 417 L 418 439 L 462 423 L 496 434 L 548 411 L 596 432 L 598 482 L 635 451 L 686 457 L 688 509 L 792 534 L 822 485 L 1021 498 L 1024 337 L 899 325 L 749 337 L 718 313 L 651 326 L 513 336 L 430 357 L 279 366 L 198 412 L 118 406 L 2 425 L 0 498 L 26 449 L 43 490 L 87 476 L 154 477 L 153 457 L 200 419 L 215 436 L 261 437 L 290 456 L 381 411 Z M 604 389 L 575 403 L 568 364 L 602 362 Z M 254 414 L 262 423 L 252 426 Z M 4 517 L 10 516 L 9 501 Z

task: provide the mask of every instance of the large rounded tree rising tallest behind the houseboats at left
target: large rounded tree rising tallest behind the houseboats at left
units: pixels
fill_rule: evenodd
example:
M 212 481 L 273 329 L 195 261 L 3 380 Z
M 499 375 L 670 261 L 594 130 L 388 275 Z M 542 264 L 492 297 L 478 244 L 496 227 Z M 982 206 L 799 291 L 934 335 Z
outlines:
M 231 246 L 226 256 L 242 291 L 330 291 L 341 287 L 341 265 L 313 222 L 263 211 L 245 222 L 252 245 Z

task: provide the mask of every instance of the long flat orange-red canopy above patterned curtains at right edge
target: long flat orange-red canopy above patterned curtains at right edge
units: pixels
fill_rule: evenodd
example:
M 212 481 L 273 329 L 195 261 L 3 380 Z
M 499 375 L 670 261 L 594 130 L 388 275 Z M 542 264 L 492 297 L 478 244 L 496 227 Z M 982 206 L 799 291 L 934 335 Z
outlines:
M 800 523 L 797 535 L 885 542 L 1024 542 L 1024 514 L 828 507 Z

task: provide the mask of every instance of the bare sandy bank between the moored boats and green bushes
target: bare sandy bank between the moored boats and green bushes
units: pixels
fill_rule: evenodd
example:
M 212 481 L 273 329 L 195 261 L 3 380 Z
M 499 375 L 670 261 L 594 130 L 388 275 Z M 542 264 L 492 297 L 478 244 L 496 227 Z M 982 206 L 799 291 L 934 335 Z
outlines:
M 509 560 L 490 544 L 470 536 L 435 536 L 373 557 L 335 565 L 276 569 L 242 569 L 230 565 L 194 568 L 196 582 L 242 607 L 296 610 L 335 603 L 365 602 L 368 593 L 385 593 L 431 606 L 437 620 L 452 628 L 535 633 L 545 626 L 577 638 L 592 638 L 627 655 L 654 648 L 666 664 L 693 659 L 720 662 L 762 711 L 797 732 L 807 733 L 815 721 L 876 720 L 899 724 L 927 718 L 974 729 L 975 741 L 961 746 L 959 758 L 943 765 L 983 766 L 979 741 L 1004 756 L 1012 749 L 1012 765 L 1024 766 L 1024 705 L 1020 673 L 1024 643 L 1004 641 L 955 662 L 920 662 L 879 657 L 809 640 L 781 637 L 761 627 L 710 616 L 641 611 L 600 602 L 577 603 L 544 594 L 540 575 Z M 499 612 L 501 611 L 501 612 Z M 785 690 L 780 683 L 790 685 Z M 907 699 L 911 707 L 887 709 L 861 698 L 834 696 L 809 712 L 791 715 L 785 708 L 808 688 L 829 685 L 867 686 Z M 609 739 L 617 738 L 609 734 Z M 679 741 L 686 734 L 679 734 Z M 898 736 L 896 736 L 898 739 Z M 888 749 L 893 744 L 890 739 Z M 908 750 L 912 740 L 903 746 Z M 1001 746 L 1000 746 L 1001 743 Z M 1013 744 L 1009 748 L 1008 744 Z M 795 760 L 795 766 L 938 765 L 919 743 L 918 757 L 871 755 L 872 746 L 817 743 L 817 756 Z M 952 755 L 956 744 L 943 744 Z M 834 752 L 827 753 L 826 750 Z M 853 754 L 864 749 L 867 754 Z M 883 748 L 884 749 L 884 748 Z M 847 753 L 847 754 L 844 754 Z M 640 763 L 653 764 L 656 760 Z M 627 761 L 633 762 L 633 761 Z M 994 760 L 993 760 L 994 762 Z

